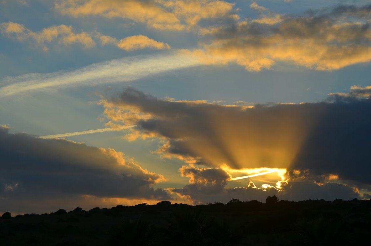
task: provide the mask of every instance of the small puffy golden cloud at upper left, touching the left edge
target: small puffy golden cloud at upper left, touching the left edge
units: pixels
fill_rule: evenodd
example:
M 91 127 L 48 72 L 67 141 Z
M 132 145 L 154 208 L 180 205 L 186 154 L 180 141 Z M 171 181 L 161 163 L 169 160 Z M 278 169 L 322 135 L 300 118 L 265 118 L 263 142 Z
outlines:
M 40 32 L 32 32 L 25 26 L 14 22 L 3 22 L 0 24 L 0 31 L 4 35 L 16 39 L 20 42 L 29 42 L 32 45 L 41 47 L 44 51 L 48 48 L 45 43 L 57 41 L 63 45 L 80 43 L 84 48 L 92 48 L 95 42 L 92 37 L 86 33 L 76 33 L 72 26 L 59 25 L 44 28 Z

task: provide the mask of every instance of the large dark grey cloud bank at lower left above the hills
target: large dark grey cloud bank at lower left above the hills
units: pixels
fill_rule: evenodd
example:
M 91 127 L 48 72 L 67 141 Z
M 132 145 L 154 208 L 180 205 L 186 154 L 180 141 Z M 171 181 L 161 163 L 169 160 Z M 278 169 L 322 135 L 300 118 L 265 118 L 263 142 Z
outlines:
M 166 179 L 114 149 L 0 129 L 0 199 L 6 204 L 68 197 L 167 200 L 153 185 Z M 69 200 L 69 198 L 67 199 Z M 1 203 L 0 210 L 9 210 Z M 39 204 L 42 206 L 42 204 Z M 59 204 L 60 205 L 60 204 Z M 73 203 L 69 207 L 78 206 Z M 91 204 L 94 205 L 94 204 Z M 23 208 L 23 211 L 27 208 Z M 19 211 L 20 212 L 20 211 Z

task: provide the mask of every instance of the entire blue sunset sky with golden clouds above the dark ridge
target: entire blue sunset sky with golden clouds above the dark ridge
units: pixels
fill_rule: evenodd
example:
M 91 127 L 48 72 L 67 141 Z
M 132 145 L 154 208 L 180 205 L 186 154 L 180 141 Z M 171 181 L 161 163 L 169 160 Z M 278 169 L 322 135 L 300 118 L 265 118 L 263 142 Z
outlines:
M 0 212 L 371 198 L 367 0 L 0 0 Z

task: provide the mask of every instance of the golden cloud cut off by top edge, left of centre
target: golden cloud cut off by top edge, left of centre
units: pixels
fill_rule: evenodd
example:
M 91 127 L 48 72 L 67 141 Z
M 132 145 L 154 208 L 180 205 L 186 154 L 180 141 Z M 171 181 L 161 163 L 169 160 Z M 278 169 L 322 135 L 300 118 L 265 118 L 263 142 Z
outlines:
M 238 19 L 233 4 L 213 0 L 141 1 L 64 0 L 55 4 L 62 14 L 130 19 L 159 30 L 190 30 L 202 19 Z

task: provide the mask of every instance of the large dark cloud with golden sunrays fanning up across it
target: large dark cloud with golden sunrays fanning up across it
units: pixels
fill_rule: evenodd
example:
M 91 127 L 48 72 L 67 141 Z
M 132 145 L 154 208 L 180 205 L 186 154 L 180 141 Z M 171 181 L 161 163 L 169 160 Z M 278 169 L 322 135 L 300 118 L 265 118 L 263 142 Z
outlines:
M 362 95 L 368 90 L 352 88 Z M 161 100 L 127 88 L 101 103 L 112 122 L 138 125 L 128 140 L 157 137 L 164 158 L 214 168 L 309 169 L 371 184 L 370 98 L 251 107 Z

